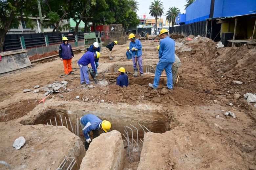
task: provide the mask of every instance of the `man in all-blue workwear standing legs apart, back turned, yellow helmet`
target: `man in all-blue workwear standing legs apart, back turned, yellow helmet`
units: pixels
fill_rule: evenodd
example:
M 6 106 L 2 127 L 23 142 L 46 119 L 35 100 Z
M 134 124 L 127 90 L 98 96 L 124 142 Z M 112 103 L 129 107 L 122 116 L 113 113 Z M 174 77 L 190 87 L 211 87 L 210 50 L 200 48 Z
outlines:
M 173 90 L 172 65 L 175 62 L 175 42 L 168 36 L 168 30 L 164 28 L 161 29 L 159 37 L 161 39 L 158 54 L 159 62 L 155 72 L 154 84 L 149 83 L 148 85 L 149 87 L 157 89 L 160 76 L 164 69 L 167 76 L 167 87 L 168 89 Z

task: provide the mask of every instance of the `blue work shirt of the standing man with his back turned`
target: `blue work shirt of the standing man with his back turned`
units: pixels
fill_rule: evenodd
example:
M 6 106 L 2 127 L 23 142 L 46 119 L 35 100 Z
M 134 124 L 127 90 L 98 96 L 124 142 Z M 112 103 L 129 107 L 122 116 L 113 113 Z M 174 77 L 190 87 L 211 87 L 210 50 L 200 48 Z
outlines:
M 162 62 L 174 63 L 175 62 L 175 42 L 169 36 L 160 41 L 159 58 Z

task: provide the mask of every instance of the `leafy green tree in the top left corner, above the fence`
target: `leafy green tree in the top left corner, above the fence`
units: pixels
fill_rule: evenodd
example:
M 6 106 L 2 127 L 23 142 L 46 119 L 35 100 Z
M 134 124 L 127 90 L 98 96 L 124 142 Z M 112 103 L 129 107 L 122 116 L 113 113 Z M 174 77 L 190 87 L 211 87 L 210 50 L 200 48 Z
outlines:
M 18 26 L 20 20 L 24 20 L 33 29 L 34 24 L 28 17 L 36 7 L 36 0 L 0 1 L 0 51 L 3 51 L 5 37 L 11 26 Z

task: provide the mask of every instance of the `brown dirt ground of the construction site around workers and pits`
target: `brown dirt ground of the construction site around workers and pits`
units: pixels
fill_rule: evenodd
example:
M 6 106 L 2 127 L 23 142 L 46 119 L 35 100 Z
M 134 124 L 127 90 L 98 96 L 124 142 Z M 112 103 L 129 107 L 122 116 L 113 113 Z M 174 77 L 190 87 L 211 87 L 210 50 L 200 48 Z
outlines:
M 118 76 L 115 70 L 123 66 L 133 73 L 132 61 L 125 55 L 129 41 L 113 48 L 113 61 L 102 50 L 98 72 L 104 73 L 105 81 L 93 84 L 92 88 L 81 86 L 80 78 L 60 78 L 64 68 L 58 57 L 0 77 L 0 160 L 13 169 L 56 169 L 76 147 L 73 155 L 78 155 L 77 162 L 81 162 L 85 151 L 77 147 L 83 148 L 82 132 L 81 141 L 67 128 L 47 126 L 46 122 L 60 113 L 73 120 L 93 113 L 110 120 L 112 129 L 121 134 L 123 126 L 139 127 L 138 123 L 154 132 L 151 137 L 147 134 L 151 144 L 142 146 L 140 162 L 138 155 L 135 162 L 125 155 L 125 170 L 138 167 L 255 170 L 256 103 L 247 103 L 243 95 L 256 93 L 256 48 L 217 49 L 217 43 L 208 38 L 190 38 L 192 41 L 175 39 L 181 78 L 173 91 L 167 89 L 166 77 L 161 77 L 157 90 L 148 86 L 153 83 L 154 74 L 146 73 L 146 68 L 159 61 L 159 42 L 152 40 L 141 42 L 144 77 L 128 74 L 127 88 L 115 85 Z M 75 54 L 73 68 L 78 68 L 77 60 L 82 55 Z M 75 73 L 79 74 L 79 70 Z M 68 77 L 71 76 L 79 75 Z M 66 88 L 53 93 L 45 104 L 38 104 L 45 97 L 41 87 L 63 80 L 68 82 Z M 233 81 L 243 84 L 236 85 Z M 40 85 L 38 93 L 23 92 L 35 90 L 35 85 Z M 225 116 L 228 111 L 235 113 L 235 118 Z M 57 123 L 61 124 L 60 120 Z M 143 133 L 139 133 L 143 139 Z M 20 136 L 26 143 L 16 150 L 12 144 Z M 147 152 L 155 155 L 148 159 Z M 5 166 L 0 165 L 0 169 Z

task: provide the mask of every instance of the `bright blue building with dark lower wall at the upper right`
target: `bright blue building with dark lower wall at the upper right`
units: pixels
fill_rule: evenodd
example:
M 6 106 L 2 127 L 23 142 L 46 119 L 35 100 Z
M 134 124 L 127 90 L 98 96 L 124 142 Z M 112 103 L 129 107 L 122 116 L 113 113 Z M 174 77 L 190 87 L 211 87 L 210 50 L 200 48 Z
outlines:
M 180 26 L 174 32 L 206 36 L 214 41 L 220 41 L 222 36 L 225 36 L 223 41 L 233 39 L 234 32 L 234 39 L 255 39 L 255 10 L 256 0 L 196 0 L 182 14 L 185 22 L 178 15 L 176 23 Z

